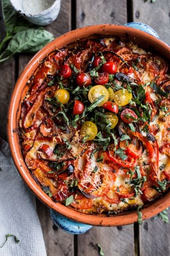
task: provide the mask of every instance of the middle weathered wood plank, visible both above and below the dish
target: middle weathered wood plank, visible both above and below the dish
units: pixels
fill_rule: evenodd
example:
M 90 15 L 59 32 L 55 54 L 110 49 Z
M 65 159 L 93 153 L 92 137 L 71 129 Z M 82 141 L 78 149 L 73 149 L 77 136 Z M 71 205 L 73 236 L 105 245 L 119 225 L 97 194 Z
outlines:
M 126 1 L 77 1 L 77 27 L 126 22 Z M 99 255 L 99 248 L 96 244 L 103 247 L 105 255 L 134 255 L 133 225 L 93 227 L 87 233 L 78 236 L 78 255 Z

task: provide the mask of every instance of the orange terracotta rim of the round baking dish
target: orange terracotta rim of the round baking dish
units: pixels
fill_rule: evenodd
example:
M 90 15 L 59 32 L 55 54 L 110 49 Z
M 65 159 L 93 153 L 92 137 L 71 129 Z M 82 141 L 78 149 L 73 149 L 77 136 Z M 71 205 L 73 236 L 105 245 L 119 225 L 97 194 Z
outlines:
M 21 75 L 19 76 L 15 84 L 10 99 L 8 110 L 7 135 L 12 158 L 14 160 L 15 166 L 20 176 L 28 185 L 28 187 L 32 190 L 35 196 L 45 205 L 47 205 L 53 210 L 56 210 L 59 214 L 71 220 L 82 222 L 89 225 L 126 225 L 137 221 L 138 216 L 136 211 L 127 212 L 126 214 L 111 215 L 108 218 L 106 214 L 84 214 L 80 211 L 77 211 L 76 209 L 72 209 L 60 203 L 53 202 L 52 199 L 42 191 L 42 189 L 36 183 L 34 178 L 31 176 L 31 173 L 23 160 L 19 146 L 19 138 L 17 134 L 18 120 L 20 117 L 21 110 L 21 101 L 29 89 L 26 83 L 29 80 L 29 78 L 33 75 L 36 68 L 39 66 L 40 61 L 52 51 L 60 49 L 68 44 L 71 44 L 75 42 L 78 38 L 82 39 L 95 34 L 113 36 L 122 36 L 126 34 L 127 36 L 129 36 L 130 39 L 135 41 L 137 44 L 143 45 L 144 42 L 144 47 L 152 47 L 154 50 L 157 50 L 160 54 L 166 56 L 166 58 L 170 58 L 170 47 L 168 45 L 166 45 L 163 41 L 156 38 L 155 36 L 152 36 L 138 29 L 120 25 L 94 25 L 70 31 L 56 38 L 54 41 L 50 42 L 43 49 L 41 49 L 37 54 L 34 55 L 34 57 L 30 60 L 26 68 L 22 71 Z M 150 205 L 145 206 L 141 210 L 142 220 L 157 215 L 160 211 L 164 210 L 169 205 L 170 191 L 159 200 L 155 201 Z

